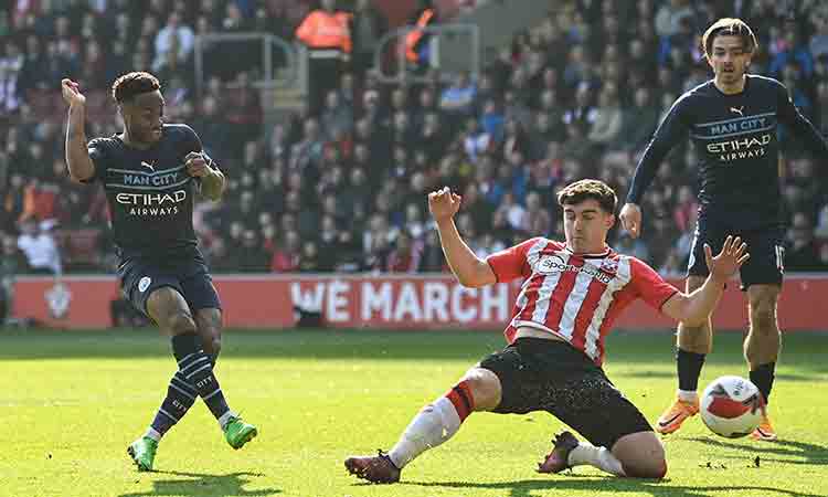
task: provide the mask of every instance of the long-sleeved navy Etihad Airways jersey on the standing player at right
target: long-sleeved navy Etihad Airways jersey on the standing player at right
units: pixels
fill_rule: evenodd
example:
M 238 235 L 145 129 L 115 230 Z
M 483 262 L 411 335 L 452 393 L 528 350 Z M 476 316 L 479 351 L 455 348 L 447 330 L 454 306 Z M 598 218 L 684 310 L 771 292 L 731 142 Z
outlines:
M 828 142 L 776 80 L 747 75 L 744 89 L 725 95 L 713 81 L 683 94 L 670 108 L 638 163 L 627 202 L 640 203 L 665 156 L 689 136 L 700 159 L 699 200 L 705 214 L 742 228 L 778 223 L 782 208 L 776 128 L 784 124 L 820 160 Z

